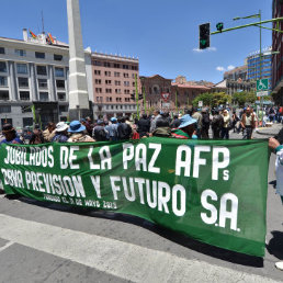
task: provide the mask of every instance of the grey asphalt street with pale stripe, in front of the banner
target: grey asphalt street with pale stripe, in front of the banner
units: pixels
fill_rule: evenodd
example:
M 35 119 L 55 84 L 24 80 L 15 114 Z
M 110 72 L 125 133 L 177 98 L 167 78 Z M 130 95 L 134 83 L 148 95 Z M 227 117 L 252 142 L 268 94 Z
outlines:
M 1 195 L 0 282 L 283 282 L 283 273 L 274 268 L 283 260 L 274 157 L 263 260 L 194 241 L 137 217 Z

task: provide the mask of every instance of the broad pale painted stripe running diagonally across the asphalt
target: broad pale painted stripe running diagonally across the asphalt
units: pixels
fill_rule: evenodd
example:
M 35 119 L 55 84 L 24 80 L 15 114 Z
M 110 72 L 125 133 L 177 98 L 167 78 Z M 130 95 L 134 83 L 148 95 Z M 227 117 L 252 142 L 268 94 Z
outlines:
M 133 282 L 275 282 L 204 261 L 3 214 L 0 214 L 0 227 L 3 239 Z

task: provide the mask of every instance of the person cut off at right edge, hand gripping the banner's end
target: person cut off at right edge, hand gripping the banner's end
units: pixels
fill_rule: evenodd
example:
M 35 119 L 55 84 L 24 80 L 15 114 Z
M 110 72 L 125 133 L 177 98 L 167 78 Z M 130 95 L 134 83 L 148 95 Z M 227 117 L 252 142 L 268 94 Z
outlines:
M 271 137 L 269 139 L 269 147 L 276 152 L 275 170 L 276 170 L 276 193 L 281 196 L 283 204 L 283 145 L 279 140 Z M 283 261 L 275 263 L 279 270 L 283 271 Z

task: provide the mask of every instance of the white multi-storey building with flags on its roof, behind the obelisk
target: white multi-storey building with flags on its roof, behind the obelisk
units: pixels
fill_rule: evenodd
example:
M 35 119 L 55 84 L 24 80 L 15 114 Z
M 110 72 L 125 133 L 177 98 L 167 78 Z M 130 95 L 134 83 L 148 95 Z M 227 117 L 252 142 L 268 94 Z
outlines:
M 45 34 L 23 41 L 0 37 L 0 123 L 14 127 L 68 118 L 68 45 Z M 91 50 L 84 50 L 89 98 L 93 100 Z M 92 103 L 91 103 L 92 104 Z M 35 117 L 32 112 L 35 107 Z

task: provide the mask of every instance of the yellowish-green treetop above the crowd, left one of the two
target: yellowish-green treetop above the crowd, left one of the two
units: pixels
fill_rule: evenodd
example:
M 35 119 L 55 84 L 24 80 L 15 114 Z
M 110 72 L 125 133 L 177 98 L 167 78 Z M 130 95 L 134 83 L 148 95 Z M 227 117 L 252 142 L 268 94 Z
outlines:
M 202 93 L 193 100 L 193 105 L 197 106 L 199 101 L 203 101 L 203 105 L 208 105 L 214 107 L 220 104 L 226 105 L 227 102 L 230 103 L 231 98 L 225 92 Z

